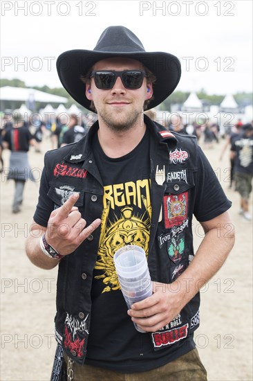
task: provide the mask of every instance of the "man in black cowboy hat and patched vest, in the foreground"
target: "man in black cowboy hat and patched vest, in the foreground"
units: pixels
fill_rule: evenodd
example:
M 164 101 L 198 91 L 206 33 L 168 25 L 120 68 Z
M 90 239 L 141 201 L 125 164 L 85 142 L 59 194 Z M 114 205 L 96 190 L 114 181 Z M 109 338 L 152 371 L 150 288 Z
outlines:
M 63 348 L 72 380 L 206 380 L 193 339 L 198 290 L 232 249 L 231 203 L 194 137 L 143 116 L 174 91 L 180 62 L 111 26 L 93 51 L 60 55 L 57 70 L 98 119 L 46 154 L 26 245 L 35 265 L 59 265 L 52 379 Z M 193 213 L 206 233 L 195 257 Z M 130 310 L 113 264 L 124 245 L 146 251 L 153 281 L 153 295 Z

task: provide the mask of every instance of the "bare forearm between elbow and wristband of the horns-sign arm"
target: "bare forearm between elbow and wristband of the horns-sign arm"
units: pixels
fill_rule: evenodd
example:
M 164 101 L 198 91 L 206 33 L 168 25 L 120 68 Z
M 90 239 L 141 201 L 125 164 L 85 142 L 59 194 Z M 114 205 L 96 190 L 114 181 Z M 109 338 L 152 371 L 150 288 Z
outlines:
M 46 231 L 46 229 L 45 229 Z M 40 236 L 38 234 L 41 233 Z M 33 230 L 30 237 L 26 240 L 26 254 L 30 261 L 37 267 L 41 269 L 53 269 L 53 267 L 57 266 L 59 260 L 54 258 L 49 258 L 44 254 L 39 245 L 39 240 L 41 236 L 44 234 L 44 231 L 36 231 Z

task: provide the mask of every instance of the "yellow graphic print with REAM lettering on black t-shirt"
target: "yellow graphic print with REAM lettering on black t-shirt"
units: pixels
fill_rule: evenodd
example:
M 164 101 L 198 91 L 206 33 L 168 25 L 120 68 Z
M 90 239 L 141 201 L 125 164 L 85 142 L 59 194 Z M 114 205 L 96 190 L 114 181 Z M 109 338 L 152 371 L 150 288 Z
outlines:
M 102 270 L 102 292 L 120 289 L 113 255 L 125 245 L 149 247 L 151 202 L 149 179 L 104 186 L 100 245 L 95 269 Z

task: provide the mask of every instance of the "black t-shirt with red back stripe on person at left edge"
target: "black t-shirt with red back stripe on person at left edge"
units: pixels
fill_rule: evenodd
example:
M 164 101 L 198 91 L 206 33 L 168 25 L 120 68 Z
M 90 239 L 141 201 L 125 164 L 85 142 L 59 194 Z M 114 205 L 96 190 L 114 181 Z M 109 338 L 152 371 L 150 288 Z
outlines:
M 32 139 L 32 134 L 28 130 L 28 127 L 13 127 L 6 132 L 3 136 L 3 141 L 6 141 L 11 151 L 23 151 L 29 150 L 29 142 Z

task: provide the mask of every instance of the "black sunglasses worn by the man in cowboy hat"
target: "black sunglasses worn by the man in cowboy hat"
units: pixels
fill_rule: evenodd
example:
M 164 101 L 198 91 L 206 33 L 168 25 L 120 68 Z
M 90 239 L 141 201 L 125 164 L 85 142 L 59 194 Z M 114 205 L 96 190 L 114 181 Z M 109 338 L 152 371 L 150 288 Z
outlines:
M 97 89 L 109 90 L 112 89 L 116 79 L 120 77 L 126 89 L 140 89 L 143 78 L 147 77 L 144 70 L 124 70 L 124 71 L 109 71 L 98 70 L 91 73 L 91 78 L 94 78 Z

